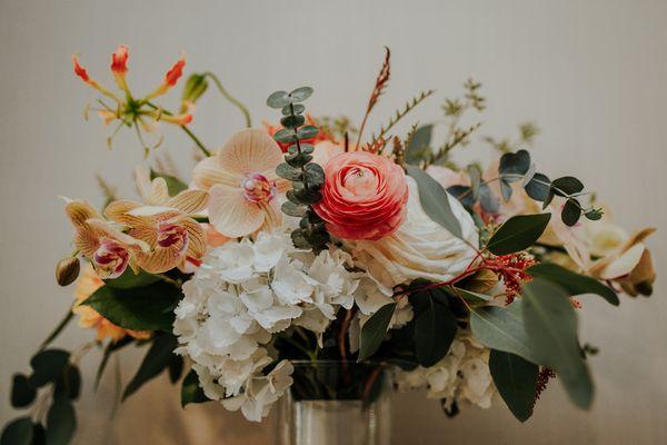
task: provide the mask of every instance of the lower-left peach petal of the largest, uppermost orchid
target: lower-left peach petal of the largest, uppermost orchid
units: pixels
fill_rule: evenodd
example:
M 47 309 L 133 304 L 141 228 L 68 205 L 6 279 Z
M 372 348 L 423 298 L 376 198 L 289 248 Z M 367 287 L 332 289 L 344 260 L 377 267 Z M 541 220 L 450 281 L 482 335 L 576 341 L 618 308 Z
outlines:
M 237 238 L 261 227 L 265 211 L 247 200 L 241 189 L 216 185 L 209 192 L 209 219 L 221 235 Z

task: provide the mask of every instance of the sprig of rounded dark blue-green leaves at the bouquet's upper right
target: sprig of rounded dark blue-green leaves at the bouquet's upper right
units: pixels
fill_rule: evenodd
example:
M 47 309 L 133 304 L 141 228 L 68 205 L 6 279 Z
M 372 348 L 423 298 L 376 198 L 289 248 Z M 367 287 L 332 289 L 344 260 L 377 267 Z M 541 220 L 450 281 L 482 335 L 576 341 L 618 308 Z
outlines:
M 481 180 L 481 171 L 477 166 L 468 167 L 468 174 L 470 176 L 470 187 L 452 186 L 447 189 L 466 207 L 472 207 L 479 200 L 482 209 L 495 214 L 498 211 L 498 200 L 488 184 L 499 181 L 502 199 L 508 201 L 514 191 L 511 182 L 520 180 L 526 194 L 531 199 L 542 202 L 542 209 L 551 204 L 554 197 L 565 198 L 560 219 L 568 226 L 577 224 L 581 215 L 590 220 L 598 220 L 603 217 L 601 209 L 584 207 L 577 199 L 580 196 L 588 195 L 584 191 L 584 184 L 579 179 L 573 176 L 564 176 L 550 180 L 546 175 L 536 171 L 535 164 L 530 161 L 530 154 L 526 150 L 502 155 L 497 178 Z

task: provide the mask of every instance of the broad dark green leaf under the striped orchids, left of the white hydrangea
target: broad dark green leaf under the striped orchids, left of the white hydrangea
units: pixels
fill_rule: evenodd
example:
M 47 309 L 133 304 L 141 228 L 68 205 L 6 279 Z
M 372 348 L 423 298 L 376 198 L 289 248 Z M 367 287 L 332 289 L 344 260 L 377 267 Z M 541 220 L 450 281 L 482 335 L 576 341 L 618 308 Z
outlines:
M 181 290 L 176 286 L 158 281 L 131 289 L 103 286 L 82 304 L 126 329 L 171 332 L 172 308 L 180 296 Z

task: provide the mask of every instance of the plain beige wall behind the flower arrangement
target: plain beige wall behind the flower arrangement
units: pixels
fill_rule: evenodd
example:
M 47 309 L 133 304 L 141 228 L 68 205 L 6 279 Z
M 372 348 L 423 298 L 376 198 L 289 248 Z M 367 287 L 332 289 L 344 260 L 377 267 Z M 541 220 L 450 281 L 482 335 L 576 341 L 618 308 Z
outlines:
M 142 154 L 121 131 L 82 110 L 94 95 L 71 72 L 82 53 L 89 71 L 107 71 L 118 43 L 131 48 L 130 83 L 153 88 L 181 50 L 188 70 L 210 69 L 248 103 L 256 122 L 275 119 L 267 93 L 315 87 L 315 113 L 359 118 L 381 60 L 394 51 L 392 79 L 370 128 L 419 89 L 438 97 L 414 117 L 439 116 L 444 95 L 469 76 L 484 81 L 489 108 L 481 134 L 512 134 L 519 121 L 542 128 L 534 156 L 552 175 L 574 174 L 629 229 L 660 228 L 651 239 L 663 274 L 649 300 L 624 299 L 614 309 L 586 301 L 584 338 L 600 347 L 593 359 L 598 397 L 589 413 L 567 404 L 552 385 L 535 417 L 519 426 L 501 402 L 445 418 L 422 395 L 395 404 L 396 444 L 658 444 L 667 443 L 667 2 L 627 1 L 0 1 L 0 421 L 11 373 L 27 370 L 38 343 L 70 303 L 53 283 L 53 264 L 69 250 L 71 229 L 58 195 L 100 201 L 93 174 L 130 196 L 129 172 Z M 172 98 L 176 99 L 176 98 Z M 168 101 L 169 102 L 169 101 Z M 173 102 L 171 102 L 173 105 Z M 242 126 L 212 92 L 193 128 L 211 146 Z M 190 167 L 191 145 L 166 129 L 168 150 Z M 479 144 L 471 156 L 482 155 Z M 90 339 L 71 328 L 58 342 Z M 139 354 L 123 356 L 128 379 Z M 93 394 L 83 366 L 78 444 L 267 444 L 270 424 L 246 423 L 221 408 L 178 406 L 160 379 L 119 409 L 113 424 L 113 373 Z M 112 367 L 110 368 L 112 369 Z M 241 439 L 249 434 L 251 441 Z

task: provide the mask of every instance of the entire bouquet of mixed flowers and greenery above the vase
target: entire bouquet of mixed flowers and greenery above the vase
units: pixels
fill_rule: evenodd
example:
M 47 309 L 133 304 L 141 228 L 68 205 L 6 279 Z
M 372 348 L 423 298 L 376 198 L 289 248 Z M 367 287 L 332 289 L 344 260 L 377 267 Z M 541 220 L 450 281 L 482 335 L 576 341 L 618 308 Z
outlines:
M 409 121 L 429 90 L 368 136 L 390 78 L 387 50 L 358 127 L 307 113 L 313 90 L 301 87 L 271 93 L 276 123 L 253 128 L 210 72 L 187 79 L 178 110 L 161 107 L 185 65 L 138 95 L 127 47 L 112 57 L 117 89 L 73 58 L 76 75 L 100 95 L 88 110 L 113 134 L 136 131 L 150 167 L 135 172 L 137 198 L 118 199 L 100 179 L 101 208 L 66 199 L 73 251 L 56 276 L 76 285 L 76 300 L 30 370 L 13 376 L 13 406 L 31 408 L 6 427 L 2 444 L 68 443 L 79 360 L 102 350 L 99 382 L 129 345 L 147 353 L 123 399 L 168 373 L 183 406 L 216 400 L 253 422 L 288 390 L 340 396 L 296 370 L 328 360 L 368 364 L 348 378 L 346 397 L 374 397 L 377 370 L 394 367 L 399 388 L 426 389 L 449 415 L 502 399 L 524 422 L 551 378 L 589 407 L 587 357 L 596 348 L 579 338 L 577 313 L 589 298 L 618 305 L 618 294 L 650 295 L 653 229 L 628 235 L 579 179 L 537 167 L 527 151 L 534 126 L 522 125 L 516 140 L 474 141 L 479 125 L 464 122 L 486 103 L 470 80 L 462 97 L 446 99 L 438 122 Z M 215 149 L 191 128 L 209 87 L 248 127 Z M 162 122 L 198 150 L 188 177 L 157 150 Z M 456 164 L 457 149 L 480 142 L 497 158 Z M 71 353 L 50 347 L 73 316 L 96 338 Z

